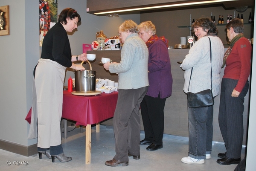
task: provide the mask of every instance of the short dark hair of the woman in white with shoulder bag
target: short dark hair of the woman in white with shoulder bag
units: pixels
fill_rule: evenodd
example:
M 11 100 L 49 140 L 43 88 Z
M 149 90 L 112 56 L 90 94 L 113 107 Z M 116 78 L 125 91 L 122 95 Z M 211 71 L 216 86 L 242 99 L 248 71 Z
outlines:
M 193 25 L 192 25 L 192 32 L 194 32 L 194 29 L 198 28 L 198 27 L 202 27 L 204 32 L 206 32 L 206 30 L 208 30 L 206 35 L 210 35 L 210 36 L 218 35 L 218 29 L 217 29 L 215 23 L 213 23 L 213 21 L 209 18 L 199 18 L 199 19 L 195 20 L 195 23 L 193 23 Z

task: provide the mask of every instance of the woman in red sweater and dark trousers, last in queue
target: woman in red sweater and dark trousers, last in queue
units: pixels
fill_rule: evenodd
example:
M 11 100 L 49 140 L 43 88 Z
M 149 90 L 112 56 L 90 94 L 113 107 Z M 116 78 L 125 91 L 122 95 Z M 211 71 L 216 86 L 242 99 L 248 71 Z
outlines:
M 227 152 L 218 154 L 221 165 L 238 164 L 241 161 L 243 142 L 244 96 L 249 89 L 252 46 L 244 38 L 244 26 L 240 19 L 227 24 L 230 47 L 224 55 L 224 76 L 221 82 L 219 126 Z M 223 67 L 224 67 L 223 64 Z

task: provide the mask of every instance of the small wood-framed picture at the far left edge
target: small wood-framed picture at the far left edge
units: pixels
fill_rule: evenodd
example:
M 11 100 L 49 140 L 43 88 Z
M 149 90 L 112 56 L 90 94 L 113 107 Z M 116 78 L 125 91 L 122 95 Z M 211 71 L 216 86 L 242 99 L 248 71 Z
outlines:
M 10 35 L 9 6 L 0 6 L 0 36 Z

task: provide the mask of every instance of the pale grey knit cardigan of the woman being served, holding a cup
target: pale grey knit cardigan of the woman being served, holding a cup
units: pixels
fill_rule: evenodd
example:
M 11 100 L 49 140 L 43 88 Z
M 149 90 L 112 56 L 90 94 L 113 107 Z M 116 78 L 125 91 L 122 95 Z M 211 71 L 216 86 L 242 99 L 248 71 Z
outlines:
M 128 35 L 122 46 L 121 61 L 110 64 L 109 71 L 118 73 L 118 89 L 138 89 L 148 84 L 148 47 L 137 33 Z

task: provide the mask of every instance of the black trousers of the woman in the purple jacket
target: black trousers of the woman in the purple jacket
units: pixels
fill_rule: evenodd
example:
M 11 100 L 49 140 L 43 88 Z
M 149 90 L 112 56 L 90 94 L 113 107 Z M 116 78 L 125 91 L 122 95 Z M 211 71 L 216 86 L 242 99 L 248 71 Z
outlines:
M 157 145 L 163 144 L 165 102 L 166 98 L 160 99 L 160 95 L 157 98 L 146 95 L 140 104 L 145 140 Z

